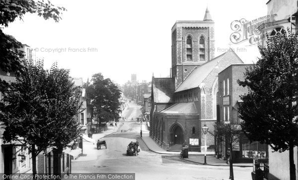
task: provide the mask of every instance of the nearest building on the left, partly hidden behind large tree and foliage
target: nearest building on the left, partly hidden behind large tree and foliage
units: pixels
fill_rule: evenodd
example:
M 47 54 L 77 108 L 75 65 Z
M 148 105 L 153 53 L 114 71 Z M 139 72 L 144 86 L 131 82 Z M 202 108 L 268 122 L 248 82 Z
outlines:
M 32 60 L 33 49 L 28 45 L 23 44 L 21 50 L 25 53 L 27 60 Z M 16 78 L 13 73 L 3 72 L 0 70 L 0 79 L 7 82 L 13 83 Z M 2 94 L 0 92 L 0 100 Z M 2 135 L 4 129 L 1 128 L 0 134 Z M 28 153 L 28 148 L 22 145 L 20 142 L 3 143 L 3 139 L 0 139 L 0 173 L 6 175 L 20 175 L 24 173 L 32 173 L 32 157 Z M 44 155 L 42 152 L 36 158 L 36 169 L 37 173 L 70 173 L 71 172 L 71 158 L 77 157 L 77 153 L 81 150 L 70 150 L 67 148 L 64 150 L 61 158 L 55 156 L 52 148 L 48 148 L 47 153 Z M 25 160 L 21 161 L 22 157 L 25 156 Z

